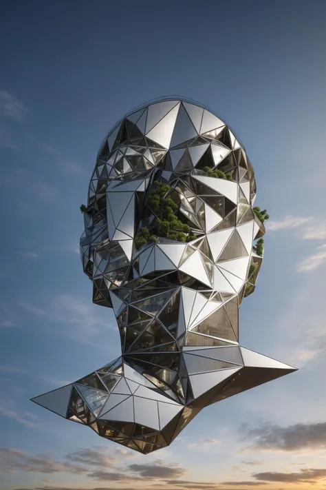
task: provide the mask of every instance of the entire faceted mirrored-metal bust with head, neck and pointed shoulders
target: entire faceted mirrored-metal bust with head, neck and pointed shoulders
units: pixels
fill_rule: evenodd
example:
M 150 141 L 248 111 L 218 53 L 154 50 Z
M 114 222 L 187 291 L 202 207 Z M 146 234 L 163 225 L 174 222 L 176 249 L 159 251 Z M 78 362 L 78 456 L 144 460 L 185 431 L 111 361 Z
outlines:
M 98 152 L 80 238 L 121 355 L 32 400 L 149 453 L 207 405 L 294 371 L 239 345 L 262 262 L 255 196 L 246 150 L 210 110 L 162 99 L 124 116 Z

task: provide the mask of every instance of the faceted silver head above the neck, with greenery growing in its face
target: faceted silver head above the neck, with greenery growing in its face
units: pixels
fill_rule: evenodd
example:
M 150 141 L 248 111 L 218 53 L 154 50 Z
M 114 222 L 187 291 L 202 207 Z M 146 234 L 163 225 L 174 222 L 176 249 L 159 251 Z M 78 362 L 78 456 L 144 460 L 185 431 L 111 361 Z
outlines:
M 157 182 L 175 203 L 173 229 L 160 225 Z M 265 232 L 255 196 L 246 150 L 209 110 L 166 99 L 127 114 L 102 143 L 89 185 L 80 252 L 94 303 L 117 310 L 144 289 L 183 286 L 215 303 L 233 297 L 237 311 L 262 261 L 252 248 Z

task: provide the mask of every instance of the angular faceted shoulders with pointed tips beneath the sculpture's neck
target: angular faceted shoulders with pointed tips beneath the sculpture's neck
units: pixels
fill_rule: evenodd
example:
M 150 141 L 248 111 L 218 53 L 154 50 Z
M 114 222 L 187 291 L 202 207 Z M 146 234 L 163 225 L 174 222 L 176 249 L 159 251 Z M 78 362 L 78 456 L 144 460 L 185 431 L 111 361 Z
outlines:
M 160 356 L 156 356 L 157 362 Z M 162 391 L 149 376 L 140 374 L 137 360 L 123 356 L 32 401 L 146 454 L 169 446 L 207 405 L 296 371 L 237 345 L 188 347 L 177 357 L 183 396 Z M 186 403 L 182 402 L 184 394 Z

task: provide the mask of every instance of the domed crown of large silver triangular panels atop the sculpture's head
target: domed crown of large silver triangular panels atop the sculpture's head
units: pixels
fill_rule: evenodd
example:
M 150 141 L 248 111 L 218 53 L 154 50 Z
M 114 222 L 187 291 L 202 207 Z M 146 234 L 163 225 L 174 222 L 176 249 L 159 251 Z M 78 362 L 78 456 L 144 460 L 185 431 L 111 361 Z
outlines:
M 155 163 L 166 150 L 221 143 L 225 131 L 229 150 L 241 147 L 226 123 L 209 110 L 186 101 L 160 101 L 126 114 L 107 134 L 98 157 L 112 156 L 114 150 L 132 145 L 134 151 L 149 148 L 147 156 L 151 161 L 152 155 Z

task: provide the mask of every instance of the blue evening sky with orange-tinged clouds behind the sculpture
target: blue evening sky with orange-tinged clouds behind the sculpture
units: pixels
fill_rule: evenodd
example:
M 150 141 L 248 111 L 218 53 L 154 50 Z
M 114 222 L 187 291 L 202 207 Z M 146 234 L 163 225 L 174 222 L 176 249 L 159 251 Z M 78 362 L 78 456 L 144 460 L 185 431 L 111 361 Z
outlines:
M 320 490 L 326 485 L 323 0 L 2 1 L 2 490 Z M 205 409 L 142 456 L 29 398 L 119 353 L 78 240 L 98 145 L 167 94 L 246 145 L 271 220 L 241 344 L 300 368 Z

